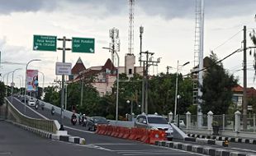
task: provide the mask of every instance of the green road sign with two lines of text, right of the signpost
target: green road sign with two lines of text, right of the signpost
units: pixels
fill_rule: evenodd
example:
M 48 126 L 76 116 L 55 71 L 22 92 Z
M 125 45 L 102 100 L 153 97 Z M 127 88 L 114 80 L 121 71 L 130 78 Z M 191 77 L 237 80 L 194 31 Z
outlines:
M 73 53 L 94 53 L 94 39 L 72 38 Z

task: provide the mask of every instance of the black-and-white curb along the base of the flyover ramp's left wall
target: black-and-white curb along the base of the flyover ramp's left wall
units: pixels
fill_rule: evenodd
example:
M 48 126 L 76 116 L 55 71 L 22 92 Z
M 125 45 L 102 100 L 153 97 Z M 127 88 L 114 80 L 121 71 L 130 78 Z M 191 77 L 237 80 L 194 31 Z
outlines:
M 53 133 L 50 133 L 50 132 L 47 132 L 47 131 L 42 131 L 42 130 L 39 130 L 39 129 L 36 129 L 36 128 L 32 128 L 30 126 L 25 126 L 25 125 L 22 125 L 22 124 L 17 123 L 17 122 L 12 122 L 12 121 L 9 121 L 9 120 L 6 120 L 6 122 L 10 122 L 15 126 L 19 126 L 23 129 L 25 129 L 26 131 L 31 131 L 33 133 L 36 133 L 36 135 L 40 135 L 40 136 L 42 136 L 44 138 L 47 138 L 47 139 L 60 140 L 60 141 L 65 141 L 65 142 L 70 142 L 70 143 L 80 144 L 80 145 L 85 145 L 85 143 L 86 143 L 84 138 L 81 138 L 81 137 L 78 137 L 78 136 L 56 135 L 56 134 L 53 134 Z

